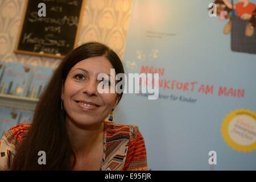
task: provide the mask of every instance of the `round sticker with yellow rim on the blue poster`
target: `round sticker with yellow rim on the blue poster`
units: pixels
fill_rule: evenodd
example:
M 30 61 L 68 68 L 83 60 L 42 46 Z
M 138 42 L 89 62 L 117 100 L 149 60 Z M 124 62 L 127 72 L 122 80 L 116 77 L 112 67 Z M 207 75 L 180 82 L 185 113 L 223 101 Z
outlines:
M 226 115 L 221 134 L 228 146 L 238 152 L 256 150 L 256 114 L 254 111 L 239 109 Z

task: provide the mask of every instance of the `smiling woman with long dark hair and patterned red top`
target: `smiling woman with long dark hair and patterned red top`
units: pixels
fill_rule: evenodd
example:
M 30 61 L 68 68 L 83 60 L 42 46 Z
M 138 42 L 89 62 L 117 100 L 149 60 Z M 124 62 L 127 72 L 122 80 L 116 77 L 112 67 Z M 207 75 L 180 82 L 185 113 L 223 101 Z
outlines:
M 33 122 L 11 128 L 1 139 L 0 170 L 147 170 L 138 127 L 105 121 L 122 93 L 98 93 L 98 84 L 113 85 L 110 77 L 97 76 L 113 68 L 124 73 L 119 57 L 104 44 L 71 51 L 48 82 Z M 46 163 L 40 162 L 43 154 Z

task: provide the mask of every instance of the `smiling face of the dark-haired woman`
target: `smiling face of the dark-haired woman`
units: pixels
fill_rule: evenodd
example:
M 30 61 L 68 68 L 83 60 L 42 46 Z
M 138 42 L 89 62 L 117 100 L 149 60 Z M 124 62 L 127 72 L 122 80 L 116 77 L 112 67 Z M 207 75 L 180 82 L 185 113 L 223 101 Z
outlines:
M 109 75 L 112 64 L 104 56 L 82 60 L 69 71 L 63 88 L 63 104 L 67 117 L 80 126 L 99 125 L 117 104 L 117 93 L 98 93 L 100 73 Z M 106 84 L 107 85 L 107 84 Z M 105 85 L 105 86 L 106 86 Z

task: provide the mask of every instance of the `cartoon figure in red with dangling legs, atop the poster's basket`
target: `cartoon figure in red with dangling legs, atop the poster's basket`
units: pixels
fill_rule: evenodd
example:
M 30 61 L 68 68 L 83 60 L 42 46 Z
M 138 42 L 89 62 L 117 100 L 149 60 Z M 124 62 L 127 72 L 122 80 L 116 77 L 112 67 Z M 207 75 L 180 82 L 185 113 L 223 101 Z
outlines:
M 225 5 L 232 9 L 232 3 L 230 3 L 228 0 L 222 0 Z M 234 10 L 236 10 L 237 16 L 240 17 L 243 20 L 247 20 L 246 28 L 245 28 L 245 35 L 246 36 L 253 36 L 254 34 L 254 28 L 252 28 L 252 23 L 249 22 L 249 20 L 254 15 L 254 11 L 256 9 L 256 5 L 254 3 L 250 3 L 249 0 L 237 0 L 240 3 L 237 3 L 234 5 Z M 224 34 L 229 34 L 232 27 L 232 20 L 229 21 L 228 24 L 226 24 L 224 28 Z

